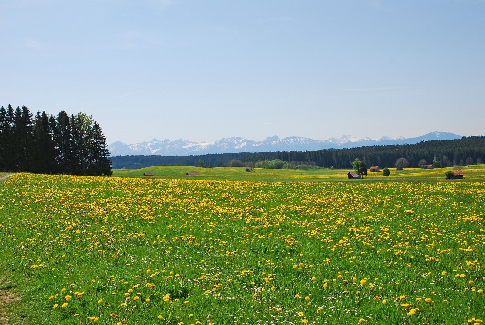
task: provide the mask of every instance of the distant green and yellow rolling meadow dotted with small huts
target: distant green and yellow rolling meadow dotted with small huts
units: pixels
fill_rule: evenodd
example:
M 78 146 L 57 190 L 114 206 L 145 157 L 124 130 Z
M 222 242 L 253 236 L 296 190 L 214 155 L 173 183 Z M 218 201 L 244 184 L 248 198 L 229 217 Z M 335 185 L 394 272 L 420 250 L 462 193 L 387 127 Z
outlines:
M 368 176 L 362 180 L 348 179 L 350 170 L 321 169 L 321 170 L 279 170 L 256 168 L 253 172 L 245 171 L 244 167 L 218 167 L 200 168 L 187 166 L 154 166 L 138 170 L 113 170 L 114 177 L 137 177 L 147 179 L 197 179 L 197 180 L 232 180 L 232 181 L 259 181 L 259 182 L 428 182 L 444 181 L 445 172 L 455 170 L 450 168 L 423 169 L 390 169 L 391 174 L 386 179 L 382 171 L 368 171 Z M 485 181 L 485 165 L 463 166 L 464 180 L 454 181 Z M 198 171 L 200 176 L 186 176 L 188 171 Z M 145 172 L 153 172 L 153 176 L 144 176 Z

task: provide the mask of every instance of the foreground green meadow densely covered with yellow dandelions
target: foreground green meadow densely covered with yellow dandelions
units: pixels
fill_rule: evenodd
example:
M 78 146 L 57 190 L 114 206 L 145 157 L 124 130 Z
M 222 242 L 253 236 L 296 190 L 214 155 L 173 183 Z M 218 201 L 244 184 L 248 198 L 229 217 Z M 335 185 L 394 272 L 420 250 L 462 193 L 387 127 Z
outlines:
M 20 173 L 0 183 L 0 216 L 1 265 L 28 279 L 41 311 L 20 324 L 485 317 L 482 182 Z

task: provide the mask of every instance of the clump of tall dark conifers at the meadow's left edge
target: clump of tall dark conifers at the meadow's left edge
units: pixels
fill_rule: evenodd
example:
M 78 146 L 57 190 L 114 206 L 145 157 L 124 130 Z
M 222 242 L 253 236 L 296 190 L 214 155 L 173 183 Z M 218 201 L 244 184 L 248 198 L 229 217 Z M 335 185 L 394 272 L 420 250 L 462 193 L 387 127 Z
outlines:
M 29 108 L 0 108 L 0 171 L 111 175 L 101 126 L 85 113 L 35 116 Z

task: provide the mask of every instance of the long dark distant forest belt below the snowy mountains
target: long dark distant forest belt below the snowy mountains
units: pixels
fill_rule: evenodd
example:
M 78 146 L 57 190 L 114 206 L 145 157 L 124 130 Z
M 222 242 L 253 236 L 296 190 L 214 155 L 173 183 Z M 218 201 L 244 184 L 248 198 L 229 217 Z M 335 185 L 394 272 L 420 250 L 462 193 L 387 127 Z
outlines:
M 359 158 L 367 166 L 394 167 L 398 158 L 405 158 L 409 167 L 416 168 L 420 160 L 426 160 L 435 167 L 471 165 L 481 163 L 485 157 L 485 137 L 474 136 L 454 140 L 421 141 L 416 144 L 367 146 L 351 149 L 329 149 L 318 151 L 289 151 L 239 154 L 209 154 L 190 156 L 132 155 L 115 156 L 113 168 L 143 168 L 148 166 L 197 166 L 202 160 L 206 167 L 231 166 L 231 161 L 239 161 L 245 166 L 252 162 L 288 162 L 289 166 L 307 164 L 323 168 L 349 169 Z M 264 163 L 263 163 L 264 164 Z M 234 162 L 232 163 L 234 165 Z M 284 165 L 282 165 L 284 166 Z

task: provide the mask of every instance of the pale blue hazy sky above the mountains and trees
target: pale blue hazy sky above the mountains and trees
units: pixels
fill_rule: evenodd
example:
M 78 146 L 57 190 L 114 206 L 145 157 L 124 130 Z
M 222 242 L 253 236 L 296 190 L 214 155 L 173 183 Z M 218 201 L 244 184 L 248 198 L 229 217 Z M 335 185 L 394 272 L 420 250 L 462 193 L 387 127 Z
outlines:
M 108 143 L 484 134 L 485 1 L 1 0 L 0 105 Z

